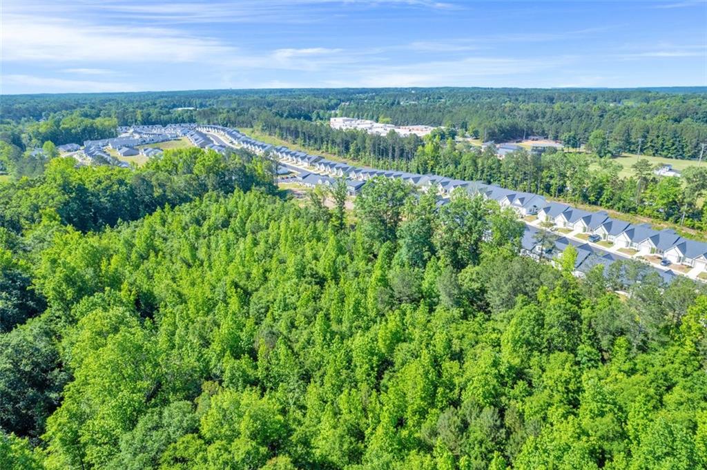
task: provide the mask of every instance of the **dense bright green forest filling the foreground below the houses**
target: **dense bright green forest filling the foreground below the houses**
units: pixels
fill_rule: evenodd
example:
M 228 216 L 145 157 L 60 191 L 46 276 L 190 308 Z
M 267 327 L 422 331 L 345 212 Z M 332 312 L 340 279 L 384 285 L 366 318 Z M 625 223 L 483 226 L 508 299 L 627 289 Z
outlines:
M 0 186 L 0 468 L 707 466 L 704 286 L 519 257 L 466 194 L 373 180 L 346 211 L 273 170 Z

